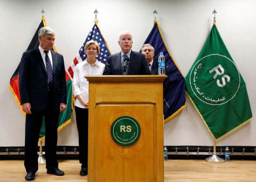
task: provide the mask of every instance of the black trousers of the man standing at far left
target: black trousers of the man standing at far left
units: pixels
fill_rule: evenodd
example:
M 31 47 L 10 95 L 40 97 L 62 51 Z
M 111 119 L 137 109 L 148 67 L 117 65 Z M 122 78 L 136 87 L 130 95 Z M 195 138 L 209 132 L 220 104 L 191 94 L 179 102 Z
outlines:
M 45 120 L 46 169 L 52 170 L 58 168 L 56 146 L 60 110 L 57 111 L 54 108 L 53 99 L 53 91 L 49 91 L 46 108 L 43 111 L 33 111 L 33 106 L 31 106 L 32 114 L 26 114 L 24 165 L 27 173 L 38 170 L 37 148 L 43 117 Z

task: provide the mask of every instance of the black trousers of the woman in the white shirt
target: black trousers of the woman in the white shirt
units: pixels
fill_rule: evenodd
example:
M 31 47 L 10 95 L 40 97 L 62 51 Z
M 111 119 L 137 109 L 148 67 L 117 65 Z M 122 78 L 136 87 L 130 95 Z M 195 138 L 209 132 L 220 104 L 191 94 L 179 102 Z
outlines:
M 88 109 L 75 107 L 76 126 L 79 138 L 79 162 L 88 168 Z

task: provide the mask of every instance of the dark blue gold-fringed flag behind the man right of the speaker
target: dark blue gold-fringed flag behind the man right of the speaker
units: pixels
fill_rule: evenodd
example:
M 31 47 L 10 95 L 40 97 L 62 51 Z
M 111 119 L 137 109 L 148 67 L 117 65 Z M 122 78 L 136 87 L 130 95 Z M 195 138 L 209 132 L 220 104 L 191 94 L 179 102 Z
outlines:
M 151 44 L 154 47 L 154 61 L 157 63 L 159 53 L 164 52 L 165 67 L 167 69 L 165 72 L 169 79 L 169 92 L 164 97 L 164 122 L 166 122 L 186 107 L 185 79 L 181 75 L 179 68 L 176 66 L 165 45 L 164 38 L 156 20 L 144 44 Z

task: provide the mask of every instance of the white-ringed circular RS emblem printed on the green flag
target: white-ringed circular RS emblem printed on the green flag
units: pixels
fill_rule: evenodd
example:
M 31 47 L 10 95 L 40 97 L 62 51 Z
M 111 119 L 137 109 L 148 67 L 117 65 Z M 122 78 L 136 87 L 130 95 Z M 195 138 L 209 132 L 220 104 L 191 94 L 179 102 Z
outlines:
M 240 87 L 240 74 L 231 59 L 210 54 L 196 62 L 189 81 L 198 99 L 209 105 L 221 105 L 235 97 Z

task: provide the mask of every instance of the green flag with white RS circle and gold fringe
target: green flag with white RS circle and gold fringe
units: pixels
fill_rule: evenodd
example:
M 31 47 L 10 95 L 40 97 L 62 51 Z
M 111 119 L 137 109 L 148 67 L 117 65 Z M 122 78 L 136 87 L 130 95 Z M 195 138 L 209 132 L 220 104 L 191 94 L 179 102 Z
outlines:
M 244 80 L 215 23 L 186 76 L 186 94 L 215 141 L 252 119 Z

